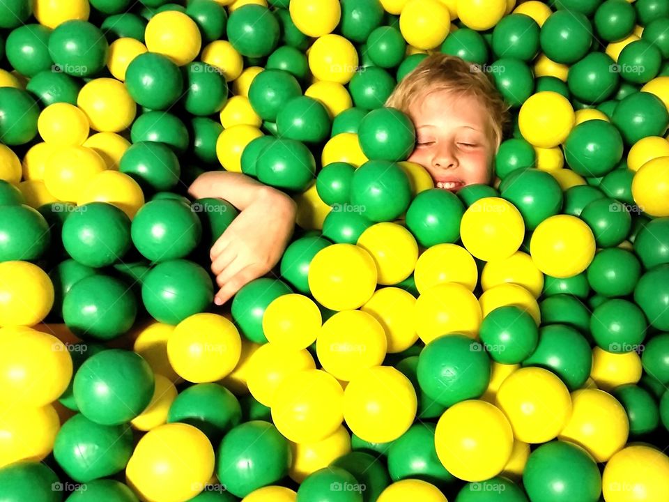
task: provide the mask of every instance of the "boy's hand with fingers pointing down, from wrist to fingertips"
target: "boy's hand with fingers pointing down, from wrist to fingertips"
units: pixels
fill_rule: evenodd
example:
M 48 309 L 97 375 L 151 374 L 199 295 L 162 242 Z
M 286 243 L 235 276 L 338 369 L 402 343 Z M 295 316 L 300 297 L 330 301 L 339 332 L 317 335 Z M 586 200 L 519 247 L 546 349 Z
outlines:
M 296 204 L 270 187 L 233 220 L 210 251 L 211 271 L 223 305 L 248 282 L 268 273 L 281 259 L 295 227 Z

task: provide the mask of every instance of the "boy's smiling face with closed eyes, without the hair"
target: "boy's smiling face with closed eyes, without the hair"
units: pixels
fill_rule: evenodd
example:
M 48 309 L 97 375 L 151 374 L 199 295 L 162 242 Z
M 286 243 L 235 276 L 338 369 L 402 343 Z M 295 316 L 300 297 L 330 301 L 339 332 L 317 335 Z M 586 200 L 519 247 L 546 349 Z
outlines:
M 409 108 L 416 147 L 408 158 L 422 165 L 436 188 L 457 192 L 491 182 L 495 145 L 486 109 L 472 96 L 435 91 Z

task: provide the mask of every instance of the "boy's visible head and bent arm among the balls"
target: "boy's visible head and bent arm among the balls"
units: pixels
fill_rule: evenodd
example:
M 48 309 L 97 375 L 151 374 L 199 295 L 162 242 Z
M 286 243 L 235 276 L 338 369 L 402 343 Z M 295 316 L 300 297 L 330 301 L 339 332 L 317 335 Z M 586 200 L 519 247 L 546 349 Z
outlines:
M 457 56 L 428 56 L 385 105 L 408 114 L 415 124 L 416 146 L 408 160 L 422 165 L 436 188 L 456 192 L 473 183 L 491 183 L 509 107 L 478 66 Z M 202 174 L 188 192 L 194 198 L 222 197 L 242 211 L 210 252 L 221 288 L 215 303 L 222 305 L 281 259 L 295 225 L 295 202 L 233 172 Z

